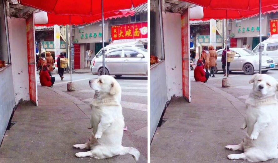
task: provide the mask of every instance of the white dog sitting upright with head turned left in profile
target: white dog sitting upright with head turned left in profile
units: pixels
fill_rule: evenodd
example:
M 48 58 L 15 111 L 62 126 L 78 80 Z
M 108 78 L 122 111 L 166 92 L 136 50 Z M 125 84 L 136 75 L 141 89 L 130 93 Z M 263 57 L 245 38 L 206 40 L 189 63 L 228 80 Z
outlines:
M 138 161 L 140 152 L 136 148 L 122 146 L 125 124 L 120 104 L 121 86 L 113 77 L 107 75 L 90 80 L 89 84 L 96 91 L 94 99 L 90 103 L 92 115 L 89 128 L 92 128 L 93 131 L 87 143 L 76 144 L 73 147 L 91 151 L 78 152 L 75 156 L 104 159 L 131 154 L 135 161 Z

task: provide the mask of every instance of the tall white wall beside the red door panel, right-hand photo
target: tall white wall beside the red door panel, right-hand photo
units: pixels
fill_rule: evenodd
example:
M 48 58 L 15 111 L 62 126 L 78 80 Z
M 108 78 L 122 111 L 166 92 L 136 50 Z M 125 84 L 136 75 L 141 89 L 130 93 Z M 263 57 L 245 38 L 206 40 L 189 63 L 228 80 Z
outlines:
M 163 12 L 167 97 L 182 96 L 181 14 Z

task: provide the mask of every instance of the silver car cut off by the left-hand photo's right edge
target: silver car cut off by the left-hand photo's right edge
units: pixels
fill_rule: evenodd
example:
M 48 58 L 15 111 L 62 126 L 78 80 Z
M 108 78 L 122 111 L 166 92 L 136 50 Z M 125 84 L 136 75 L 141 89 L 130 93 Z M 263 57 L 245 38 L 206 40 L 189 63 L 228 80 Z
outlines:
M 147 49 L 137 47 L 117 48 L 105 53 L 105 74 L 115 75 L 147 75 L 149 57 Z M 102 53 L 92 60 L 91 71 L 94 75 L 102 75 Z

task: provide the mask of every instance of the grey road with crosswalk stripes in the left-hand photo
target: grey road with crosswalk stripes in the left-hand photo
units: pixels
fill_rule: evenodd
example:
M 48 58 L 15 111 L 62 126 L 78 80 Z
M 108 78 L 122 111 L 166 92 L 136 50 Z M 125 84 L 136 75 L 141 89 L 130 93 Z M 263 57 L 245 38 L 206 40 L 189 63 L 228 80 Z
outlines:
M 70 75 L 65 73 L 61 81 L 59 75 L 53 77 L 56 81 L 54 89 L 63 91 L 89 105 L 94 96 L 94 91 L 89 86 L 89 80 L 96 79 L 98 75 L 72 74 L 72 82 L 76 91 L 68 92 L 67 83 L 70 82 Z M 140 151 L 141 156 L 147 160 L 147 77 L 145 76 L 122 76 L 117 78 L 122 87 L 122 112 L 125 118 L 127 130 L 124 135 Z M 40 84 L 39 84 L 40 85 Z M 87 126 L 80 126 L 87 127 Z M 86 142 L 87 140 L 84 140 Z

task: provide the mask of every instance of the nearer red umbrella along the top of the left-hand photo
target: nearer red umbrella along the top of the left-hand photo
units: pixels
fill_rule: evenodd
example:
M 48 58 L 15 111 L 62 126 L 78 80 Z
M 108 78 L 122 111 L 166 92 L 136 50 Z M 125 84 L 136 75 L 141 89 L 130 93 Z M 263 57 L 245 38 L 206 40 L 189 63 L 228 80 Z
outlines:
M 104 12 L 140 6 L 147 0 L 103 0 Z M 57 15 L 92 16 L 101 14 L 101 0 L 21 0 L 22 5 Z

